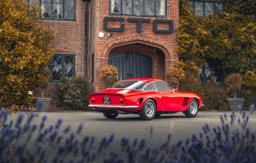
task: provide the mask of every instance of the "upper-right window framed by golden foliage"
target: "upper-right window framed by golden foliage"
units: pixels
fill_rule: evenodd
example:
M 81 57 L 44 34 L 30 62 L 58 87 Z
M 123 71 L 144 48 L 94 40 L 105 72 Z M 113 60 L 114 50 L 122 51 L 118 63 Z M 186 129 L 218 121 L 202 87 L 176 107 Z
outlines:
M 218 9 L 224 12 L 224 3 L 222 2 L 190 0 L 189 3 L 192 4 L 192 9 L 195 10 L 195 16 L 214 15 Z

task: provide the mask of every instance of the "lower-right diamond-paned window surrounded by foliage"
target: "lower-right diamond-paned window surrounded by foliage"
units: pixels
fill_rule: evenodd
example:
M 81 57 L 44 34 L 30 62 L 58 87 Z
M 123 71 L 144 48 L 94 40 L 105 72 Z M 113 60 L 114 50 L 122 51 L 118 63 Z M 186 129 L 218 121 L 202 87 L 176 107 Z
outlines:
M 207 66 L 200 66 L 200 79 L 201 83 L 224 83 L 224 73 L 222 68 L 214 63 Z

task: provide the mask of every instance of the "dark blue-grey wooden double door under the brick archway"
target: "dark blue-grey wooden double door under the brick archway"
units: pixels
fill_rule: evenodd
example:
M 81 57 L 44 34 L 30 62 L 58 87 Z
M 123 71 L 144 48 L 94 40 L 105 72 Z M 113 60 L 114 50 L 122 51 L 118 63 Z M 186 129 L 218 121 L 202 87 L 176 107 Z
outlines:
M 152 77 L 152 60 L 146 55 L 131 52 L 113 54 L 109 57 L 109 65 L 116 67 L 119 80 Z

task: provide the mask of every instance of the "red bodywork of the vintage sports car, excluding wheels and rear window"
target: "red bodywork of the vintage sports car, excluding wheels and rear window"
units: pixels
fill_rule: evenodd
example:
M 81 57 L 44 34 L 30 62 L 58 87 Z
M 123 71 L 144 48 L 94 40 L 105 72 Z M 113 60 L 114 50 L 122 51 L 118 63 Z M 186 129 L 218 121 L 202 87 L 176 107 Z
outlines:
M 157 78 L 132 78 L 123 81 L 140 81 L 145 84 L 141 90 L 131 90 L 128 88 L 107 88 L 98 93 L 89 95 L 89 107 L 98 112 L 116 112 L 121 114 L 138 114 L 147 100 L 155 103 L 155 114 L 168 114 L 185 112 L 191 100 L 195 99 L 198 108 L 203 105 L 201 97 L 190 92 L 180 92 L 171 89 L 163 80 Z M 166 90 L 161 88 L 162 83 Z M 154 85 L 151 90 L 147 86 Z M 155 85 L 160 85 L 159 89 Z M 142 86 L 141 86 L 142 87 Z M 149 86 L 148 86 L 149 87 Z M 146 90 L 145 90 L 146 88 Z M 159 90 L 159 91 L 158 91 Z M 104 104 L 105 103 L 105 104 Z

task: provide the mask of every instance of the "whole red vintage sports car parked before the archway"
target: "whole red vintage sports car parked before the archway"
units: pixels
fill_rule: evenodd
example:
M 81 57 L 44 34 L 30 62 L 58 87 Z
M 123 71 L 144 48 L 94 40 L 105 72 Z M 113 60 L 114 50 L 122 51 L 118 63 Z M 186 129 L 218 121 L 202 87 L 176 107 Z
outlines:
M 183 112 L 194 118 L 203 105 L 200 96 L 173 90 L 165 81 L 156 78 L 133 78 L 117 82 L 104 91 L 89 96 L 94 111 L 106 118 L 118 114 L 138 114 L 143 120 L 152 120 L 161 114 Z

